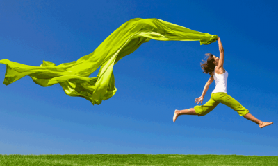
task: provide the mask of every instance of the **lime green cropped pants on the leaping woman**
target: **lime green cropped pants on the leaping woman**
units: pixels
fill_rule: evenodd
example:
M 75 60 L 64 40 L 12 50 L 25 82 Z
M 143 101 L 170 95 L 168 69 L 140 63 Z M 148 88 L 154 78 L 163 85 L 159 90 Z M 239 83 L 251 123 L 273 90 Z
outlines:
M 248 109 L 245 109 L 238 101 L 231 98 L 230 95 L 224 92 L 211 93 L 211 99 L 204 105 L 197 105 L 194 107 L 198 116 L 204 116 L 212 111 L 219 103 L 225 104 L 234 111 L 237 111 L 240 116 L 245 116 L 249 113 Z

